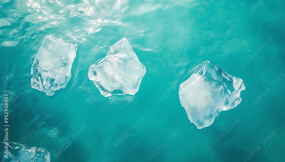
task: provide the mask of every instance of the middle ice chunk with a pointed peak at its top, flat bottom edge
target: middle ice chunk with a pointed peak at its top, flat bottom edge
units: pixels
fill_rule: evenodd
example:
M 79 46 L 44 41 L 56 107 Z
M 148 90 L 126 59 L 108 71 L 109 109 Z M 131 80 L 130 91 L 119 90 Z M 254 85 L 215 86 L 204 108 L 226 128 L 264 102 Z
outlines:
M 127 38 L 109 47 L 107 56 L 91 65 L 88 77 L 105 97 L 112 94 L 132 94 L 139 91 L 146 73 Z

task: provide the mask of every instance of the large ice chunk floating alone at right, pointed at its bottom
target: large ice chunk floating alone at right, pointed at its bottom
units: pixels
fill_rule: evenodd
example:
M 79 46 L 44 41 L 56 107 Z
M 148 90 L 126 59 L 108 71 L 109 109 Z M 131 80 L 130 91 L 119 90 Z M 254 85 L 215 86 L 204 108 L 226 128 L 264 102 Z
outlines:
M 208 127 L 221 111 L 235 108 L 243 80 L 227 74 L 219 66 L 204 61 L 179 88 L 181 105 L 198 129 Z

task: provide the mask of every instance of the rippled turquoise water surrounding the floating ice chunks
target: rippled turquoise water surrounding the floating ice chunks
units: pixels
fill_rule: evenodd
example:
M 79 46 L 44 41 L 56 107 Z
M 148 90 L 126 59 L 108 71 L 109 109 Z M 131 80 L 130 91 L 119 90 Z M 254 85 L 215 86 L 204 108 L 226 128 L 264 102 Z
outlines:
M 1 0 L 1 123 L 8 94 L 9 142 L 46 148 L 51 161 L 285 161 L 284 16 L 281 0 Z M 45 35 L 78 44 L 72 78 L 53 96 L 30 87 Z M 123 37 L 146 74 L 134 96 L 105 98 L 87 71 Z M 246 89 L 197 129 L 178 89 L 204 60 Z

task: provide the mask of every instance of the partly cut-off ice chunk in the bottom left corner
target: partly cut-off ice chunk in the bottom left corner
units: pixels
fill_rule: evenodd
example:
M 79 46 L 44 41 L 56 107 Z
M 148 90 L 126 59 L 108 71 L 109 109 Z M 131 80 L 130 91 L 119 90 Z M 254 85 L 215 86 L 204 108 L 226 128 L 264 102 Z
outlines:
M 5 142 L 0 146 L 1 162 L 50 162 L 50 153 L 44 148 L 35 148 L 23 144 L 8 142 L 6 154 Z M 5 157 L 5 155 L 8 157 Z

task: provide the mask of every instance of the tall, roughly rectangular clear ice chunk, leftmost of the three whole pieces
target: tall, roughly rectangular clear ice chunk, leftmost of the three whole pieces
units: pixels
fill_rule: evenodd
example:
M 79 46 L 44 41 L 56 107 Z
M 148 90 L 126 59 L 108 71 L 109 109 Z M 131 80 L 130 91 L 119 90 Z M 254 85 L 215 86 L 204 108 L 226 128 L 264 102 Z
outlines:
M 46 92 L 48 96 L 65 88 L 71 77 L 76 51 L 77 44 L 46 35 L 32 64 L 31 87 Z

